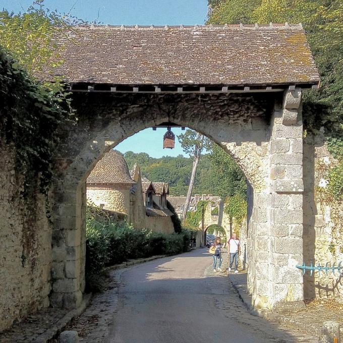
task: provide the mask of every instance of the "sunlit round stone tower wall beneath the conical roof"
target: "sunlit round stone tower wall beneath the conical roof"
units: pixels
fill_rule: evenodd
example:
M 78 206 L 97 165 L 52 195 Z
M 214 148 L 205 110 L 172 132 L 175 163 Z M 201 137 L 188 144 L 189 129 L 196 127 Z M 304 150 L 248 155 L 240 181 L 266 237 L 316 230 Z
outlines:
M 87 186 L 87 199 L 95 205 L 110 211 L 125 213 L 130 221 L 130 186 L 131 185 L 103 185 Z

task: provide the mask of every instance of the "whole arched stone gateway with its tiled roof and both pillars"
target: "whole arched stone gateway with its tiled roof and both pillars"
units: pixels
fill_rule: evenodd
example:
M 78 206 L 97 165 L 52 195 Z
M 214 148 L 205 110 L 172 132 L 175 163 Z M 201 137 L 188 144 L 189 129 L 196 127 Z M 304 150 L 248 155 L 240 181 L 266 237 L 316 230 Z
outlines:
M 140 130 L 180 125 L 219 144 L 248 179 L 255 306 L 301 306 L 301 99 L 319 84 L 301 25 L 87 26 L 56 42 L 65 63 L 53 73 L 69 82 L 78 122 L 61 127 L 49 193 L 50 304 L 83 297 L 86 180 L 97 161 Z

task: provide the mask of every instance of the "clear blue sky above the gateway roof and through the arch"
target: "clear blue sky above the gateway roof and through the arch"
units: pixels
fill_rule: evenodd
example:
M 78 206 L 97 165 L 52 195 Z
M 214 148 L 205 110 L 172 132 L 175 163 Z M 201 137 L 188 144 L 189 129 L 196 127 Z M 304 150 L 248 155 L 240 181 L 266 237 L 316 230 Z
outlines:
M 31 0 L 0 0 L 0 9 L 22 12 L 32 4 Z M 207 15 L 207 0 L 45 0 L 45 7 L 93 21 L 97 19 L 109 25 L 202 25 Z M 175 149 L 163 149 L 166 129 L 145 129 L 117 145 L 121 152 L 146 152 L 152 157 L 183 154 L 176 138 Z M 181 129 L 172 130 L 176 135 Z

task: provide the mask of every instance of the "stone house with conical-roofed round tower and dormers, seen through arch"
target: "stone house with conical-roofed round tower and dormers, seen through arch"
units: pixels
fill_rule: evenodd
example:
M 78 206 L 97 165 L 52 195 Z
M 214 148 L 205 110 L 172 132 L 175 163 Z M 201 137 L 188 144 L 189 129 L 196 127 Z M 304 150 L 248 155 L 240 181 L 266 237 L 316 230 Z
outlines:
M 87 178 L 87 199 L 106 210 L 126 215 L 135 228 L 174 233 L 173 215 L 166 207 L 169 186 L 141 177 L 135 164 L 131 173 L 124 156 L 110 150 Z

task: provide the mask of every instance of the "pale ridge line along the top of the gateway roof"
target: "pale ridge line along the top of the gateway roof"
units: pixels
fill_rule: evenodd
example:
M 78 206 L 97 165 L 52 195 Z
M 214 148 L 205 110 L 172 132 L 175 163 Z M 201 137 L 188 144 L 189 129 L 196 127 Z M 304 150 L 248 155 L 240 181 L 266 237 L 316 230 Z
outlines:
M 303 30 L 303 25 L 300 24 L 289 24 L 289 23 L 269 23 L 269 24 L 223 24 L 223 25 L 76 25 L 75 27 L 81 29 L 117 29 L 117 30 L 227 30 L 227 29 L 248 29 L 248 30 L 256 30 L 256 29 L 273 29 L 273 30 L 284 30 L 284 29 L 298 29 Z

